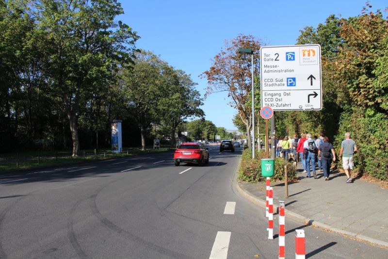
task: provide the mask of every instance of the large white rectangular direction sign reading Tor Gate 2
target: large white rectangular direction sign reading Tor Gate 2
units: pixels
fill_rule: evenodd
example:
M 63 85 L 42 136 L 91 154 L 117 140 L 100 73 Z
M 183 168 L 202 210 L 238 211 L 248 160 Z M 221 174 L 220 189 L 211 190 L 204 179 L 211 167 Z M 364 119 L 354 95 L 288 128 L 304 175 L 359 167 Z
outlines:
M 321 46 L 260 48 L 261 107 L 273 111 L 322 109 Z

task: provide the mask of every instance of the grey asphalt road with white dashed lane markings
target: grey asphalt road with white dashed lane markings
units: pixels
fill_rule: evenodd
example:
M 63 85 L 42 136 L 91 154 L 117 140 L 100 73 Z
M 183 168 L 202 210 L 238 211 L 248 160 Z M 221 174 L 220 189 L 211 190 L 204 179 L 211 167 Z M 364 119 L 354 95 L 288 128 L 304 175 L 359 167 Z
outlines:
M 277 258 L 265 211 L 236 190 L 241 149 L 204 166 L 172 152 L 0 176 L 0 258 Z M 277 233 L 277 216 L 274 220 Z M 287 219 L 306 258 L 386 258 L 387 250 Z

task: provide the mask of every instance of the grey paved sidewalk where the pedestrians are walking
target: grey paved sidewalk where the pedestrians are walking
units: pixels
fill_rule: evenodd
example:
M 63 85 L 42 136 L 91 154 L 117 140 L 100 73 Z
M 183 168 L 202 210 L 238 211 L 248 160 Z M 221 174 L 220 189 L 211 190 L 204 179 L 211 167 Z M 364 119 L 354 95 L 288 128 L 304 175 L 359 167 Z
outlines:
M 388 248 L 388 190 L 362 179 L 346 183 L 345 174 L 338 170 L 331 173 L 328 181 L 318 170 L 318 179 L 306 178 L 300 162 L 298 171 L 299 182 L 288 184 L 288 198 L 285 198 L 284 183 L 271 182 L 274 211 L 279 200 L 283 200 L 286 218 Z M 237 187 L 246 198 L 265 208 L 265 182 L 240 182 Z

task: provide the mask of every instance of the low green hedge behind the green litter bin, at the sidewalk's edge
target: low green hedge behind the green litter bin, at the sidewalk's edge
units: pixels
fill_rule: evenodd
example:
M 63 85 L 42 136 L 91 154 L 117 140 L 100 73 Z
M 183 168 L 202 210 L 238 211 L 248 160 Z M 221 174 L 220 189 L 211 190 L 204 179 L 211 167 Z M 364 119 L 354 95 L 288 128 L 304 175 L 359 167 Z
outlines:
M 264 152 L 255 153 L 255 159 L 252 159 L 252 151 L 244 149 L 242 152 L 239 179 L 246 182 L 265 181 L 266 177 L 261 176 L 261 158 L 264 158 Z M 285 162 L 282 158 L 275 159 L 275 174 L 272 181 L 284 181 L 284 166 L 287 164 L 287 177 L 289 181 L 296 180 L 296 168 L 292 162 Z

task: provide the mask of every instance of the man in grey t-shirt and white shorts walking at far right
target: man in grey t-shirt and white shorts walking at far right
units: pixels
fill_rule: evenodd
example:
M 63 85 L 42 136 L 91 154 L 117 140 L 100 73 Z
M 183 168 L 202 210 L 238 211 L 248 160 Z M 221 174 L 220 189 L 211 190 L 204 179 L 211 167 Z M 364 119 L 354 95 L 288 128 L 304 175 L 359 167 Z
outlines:
M 357 152 L 356 142 L 350 138 L 350 133 L 345 133 L 345 140 L 341 143 L 341 150 L 339 151 L 339 159 L 342 157 L 342 167 L 345 170 L 347 177 L 346 183 L 352 182 L 353 171 L 353 155 Z

